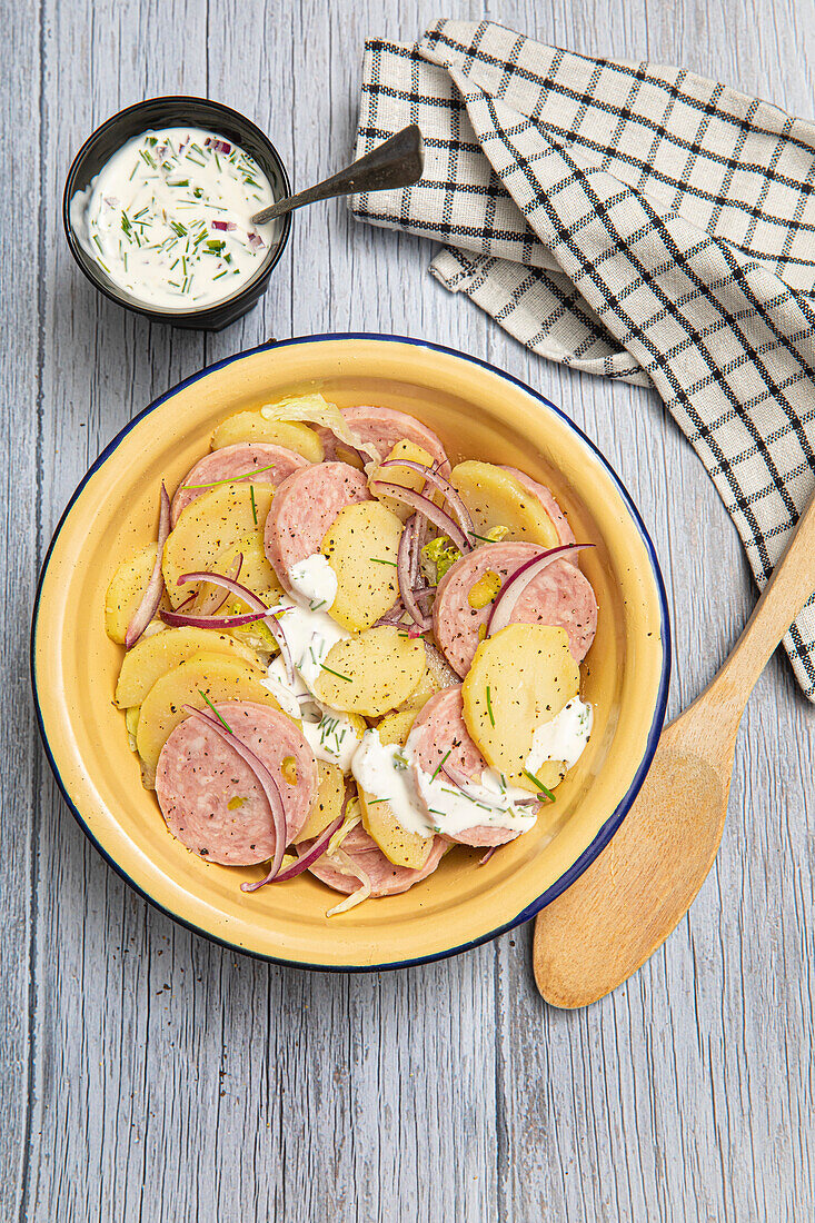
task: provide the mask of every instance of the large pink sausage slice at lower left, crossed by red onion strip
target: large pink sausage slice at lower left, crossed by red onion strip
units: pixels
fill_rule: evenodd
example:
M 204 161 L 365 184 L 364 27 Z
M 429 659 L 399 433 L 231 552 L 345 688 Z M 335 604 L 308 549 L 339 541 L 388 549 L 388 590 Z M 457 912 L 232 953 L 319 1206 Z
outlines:
M 217 709 L 278 783 L 292 841 L 318 786 L 317 762 L 297 723 L 251 701 L 226 701 Z M 252 866 L 274 854 L 274 824 L 259 781 L 201 718 L 186 718 L 162 748 L 155 794 L 173 835 L 208 862 Z

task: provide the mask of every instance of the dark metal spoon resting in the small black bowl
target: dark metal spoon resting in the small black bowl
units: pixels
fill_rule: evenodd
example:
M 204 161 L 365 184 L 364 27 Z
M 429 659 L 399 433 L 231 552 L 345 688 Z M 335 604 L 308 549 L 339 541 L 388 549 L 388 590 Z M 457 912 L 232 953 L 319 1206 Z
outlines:
M 423 168 L 422 133 L 416 124 L 411 124 L 324 182 L 299 191 L 296 196 L 289 196 L 286 199 L 278 199 L 270 208 L 263 208 L 252 216 L 252 225 L 266 225 L 275 216 L 284 216 L 295 208 L 313 204 L 318 199 L 330 199 L 332 196 L 410 187 L 414 182 L 419 182 Z

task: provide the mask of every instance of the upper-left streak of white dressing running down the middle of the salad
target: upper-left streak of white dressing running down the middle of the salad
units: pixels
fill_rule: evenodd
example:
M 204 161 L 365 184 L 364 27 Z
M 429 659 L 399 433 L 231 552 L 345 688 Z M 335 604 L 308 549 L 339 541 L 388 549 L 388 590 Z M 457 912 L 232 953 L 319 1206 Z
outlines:
M 303 737 L 317 759 L 339 764 L 348 773 L 360 744 L 359 734 L 346 713 L 323 704 L 314 696 L 321 663 L 328 651 L 351 636 L 328 615 L 337 598 L 337 574 L 326 556 L 317 553 L 292 565 L 289 581 L 294 594 L 280 599 L 274 614 L 291 653 L 294 682 L 286 676 L 284 660 L 278 654 L 269 663 L 266 687 L 284 713 L 302 719 Z

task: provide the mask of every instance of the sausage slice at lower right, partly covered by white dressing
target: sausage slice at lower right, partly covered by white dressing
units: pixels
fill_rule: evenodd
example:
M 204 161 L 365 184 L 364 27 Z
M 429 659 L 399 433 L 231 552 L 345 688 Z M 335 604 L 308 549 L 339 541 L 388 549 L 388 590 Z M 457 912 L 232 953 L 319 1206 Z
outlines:
M 414 722 L 408 746 L 412 767 L 431 777 L 444 761 L 450 768 L 480 783 L 481 774 L 489 767 L 470 739 L 464 722 L 460 684 L 430 698 Z M 444 835 L 459 845 L 488 846 L 505 845 L 519 834 L 514 828 L 501 828 L 498 824 L 476 824 L 459 833 L 445 832 Z

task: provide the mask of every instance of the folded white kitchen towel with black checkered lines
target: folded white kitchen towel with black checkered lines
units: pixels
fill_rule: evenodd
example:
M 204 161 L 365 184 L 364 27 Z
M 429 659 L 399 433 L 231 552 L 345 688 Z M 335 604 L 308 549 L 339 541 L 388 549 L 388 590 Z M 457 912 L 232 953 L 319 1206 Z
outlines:
M 815 492 L 815 127 L 453 21 L 366 44 L 357 155 L 408 122 L 425 177 L 356 215 L 447 243 L 433 275 L 535 352 L 656 386 L 762 587 Z M 815 701 L 815 594 L 784 645 Z

